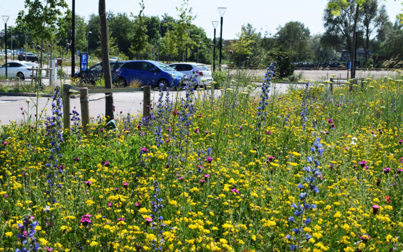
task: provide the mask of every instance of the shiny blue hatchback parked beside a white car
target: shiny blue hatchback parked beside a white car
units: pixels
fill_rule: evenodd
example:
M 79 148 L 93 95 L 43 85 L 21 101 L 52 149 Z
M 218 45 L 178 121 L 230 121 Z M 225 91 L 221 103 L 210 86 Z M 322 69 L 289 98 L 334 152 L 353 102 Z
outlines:
M 159 87 L 162 84 L 165 88 L 169 88 L 181 85 L 185 78 L 185 74 L 177 72 L 162 62 L 131 60 L 126 61 L 116 70 L 113 82 L 122 87 L 135 82 L 152 87 Z

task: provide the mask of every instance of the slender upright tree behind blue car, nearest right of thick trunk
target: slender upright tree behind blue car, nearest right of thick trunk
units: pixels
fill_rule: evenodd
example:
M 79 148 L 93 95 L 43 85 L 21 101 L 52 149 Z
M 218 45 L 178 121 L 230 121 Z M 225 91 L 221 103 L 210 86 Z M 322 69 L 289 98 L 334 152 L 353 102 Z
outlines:
M 134 24 L 134 28 L 133 28 L 133 34 L 131 37 L 130 51 L 134 55 L 137 55 L 138 59 L 140 59 L 141 51 L 146 48 L 147 38 L 148 38 L 147 37 L 147 27 L 144 25 L 143 11 L 144 11 L 144 2 L 142 0 L 140 3 L 139 15 L 135 17 L 131 13 L 131 17 L 135 18 L 135 24 Z

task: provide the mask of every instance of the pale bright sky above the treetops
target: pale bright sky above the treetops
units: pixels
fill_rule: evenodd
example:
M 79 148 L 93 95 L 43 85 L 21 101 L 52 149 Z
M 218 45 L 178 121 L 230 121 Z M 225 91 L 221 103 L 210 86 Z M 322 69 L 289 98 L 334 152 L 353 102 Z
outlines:
M 66 0 L 71 8 L 73 0 Z M 0 15 L 8 15 L 8 25 L 15 25 L 18 12 L 24 9 L 24 0 L 0 0 Z M 144 14 L 147 16 L 169 16 L 177 18 L 176 7 L 180 7 L 182 0 L 144 0 Z M 403 0 L 381 0 L 385 4 L 389 20 L 394 23 L 398 13 L 403 12 Z M 240 32 L 242 25 L 252 24 L 256 31 L 262 34 L 275 34 L 279 26 L 290 21 L 299 21 L 308 27 L 311 34 L 324 32 L 322 15 L 326 7 L 326 0 L 189 0 L 193 15 L 196 18 L 193 24 L 203 28 L 209 38 L 213 38 L 214 28 L 211 21 L 220 21 L 218 7 L 226 7 L 223 18 L 223 38 L 234 39 Z M 106 0 L 106 9 L 114 13 L 133 13 L 140 11 L 139 1 L 133 0 Z M 88 19 L 92 13 L 98 14 L 97 0 L 76 0 L 76 14 Z M 3 20 L 0 20 L 3 27 Z M 220 34 L 220 24 L 217 27 L 217 37 Z

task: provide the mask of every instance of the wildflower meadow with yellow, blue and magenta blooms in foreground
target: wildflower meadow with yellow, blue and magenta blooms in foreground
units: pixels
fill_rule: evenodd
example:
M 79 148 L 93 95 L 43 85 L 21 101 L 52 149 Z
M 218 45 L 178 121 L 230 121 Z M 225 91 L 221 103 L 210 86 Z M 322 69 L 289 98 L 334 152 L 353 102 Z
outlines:
M 0 251 L 402 251 L 401 72 L 333 93 L 278 93 L 275 72 L 85 133 L 56 89 L 0 127 Z

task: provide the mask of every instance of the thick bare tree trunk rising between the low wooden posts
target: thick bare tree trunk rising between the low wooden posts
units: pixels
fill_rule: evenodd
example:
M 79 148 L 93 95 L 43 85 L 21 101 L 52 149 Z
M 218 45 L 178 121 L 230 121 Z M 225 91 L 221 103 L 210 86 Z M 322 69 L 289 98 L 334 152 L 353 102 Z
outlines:
M 104 68 L 105 89 L 112 89 L 112 79 L 110 75 L 109 65 L 109 48 L 108 48 L 108 27 L 106 25 L 105 0 L 99 0 L 99 18 L 101 23 L 101 48 L 102 48 L 102 65 Z M 112 93 L 105 97 L 105 117 L 107 121 L 113 119 L 113 96 Z

